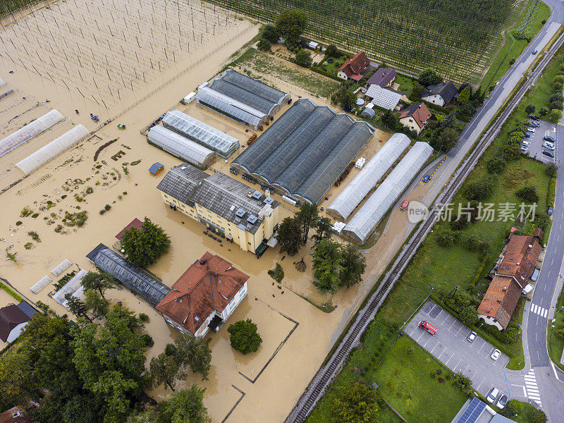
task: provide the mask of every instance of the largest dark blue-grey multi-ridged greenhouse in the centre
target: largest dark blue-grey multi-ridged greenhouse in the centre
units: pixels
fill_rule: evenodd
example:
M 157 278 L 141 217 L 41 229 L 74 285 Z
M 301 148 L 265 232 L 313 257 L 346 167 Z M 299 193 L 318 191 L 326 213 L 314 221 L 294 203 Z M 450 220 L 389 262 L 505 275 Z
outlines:
M 317 204 L 372 135 L 369 123 L 300 99 L 231 166 L 281 195 Z

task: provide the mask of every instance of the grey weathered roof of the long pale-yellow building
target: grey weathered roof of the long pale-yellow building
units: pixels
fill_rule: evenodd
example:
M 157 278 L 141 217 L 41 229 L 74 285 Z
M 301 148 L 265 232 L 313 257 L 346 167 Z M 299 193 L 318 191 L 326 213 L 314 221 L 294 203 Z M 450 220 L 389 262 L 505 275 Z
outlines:
M 243 225 L 250 233 L 256 233 L 264 220 L 259 217 L 259 212 L 266 205 L 265 196 L 256 191 L 255 197 L 249 197 L 255 190 L 221 172 L 209 175 L 182 164 L 168 171 L 157 188 L 185 204 L 200 204 L 235 226 Z M 278 205 L 280 203 L 276 201 L 270 204 L 273 209 Z M 245 213 L 238 216 L 240 209 Z M 251 223 L 250 216 L 257 220 Z

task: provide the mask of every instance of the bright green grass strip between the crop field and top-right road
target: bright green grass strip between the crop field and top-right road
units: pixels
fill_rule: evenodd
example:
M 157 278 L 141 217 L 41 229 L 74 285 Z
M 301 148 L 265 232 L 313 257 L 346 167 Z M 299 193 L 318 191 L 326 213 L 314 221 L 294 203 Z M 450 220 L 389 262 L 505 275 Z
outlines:
M 528 1 L 527 8 L 529 4 L 533 3 L 533 1 L 534 0 Z M 534 37 L 534 35 L 537 35 L 537 32 L 541 30 L 541 27 L 543 25 L 542 21 L 547 20 L 550 14 L 551 9 L 546 4 L 541 2 L 541 4 L 539 4 L 537 16 L 535 16 L 534 22 L 531 25 L 531 30 L 529 32 L 531 38 Z M 501 47 L 498 55 L 491 63 L 488 72 L 482 79 L 482 86 L 485 89 L 487 89 L 488 86 L 494 85 L 496 81 L 500 80 L 511 66 L 509 64 L 509 61 L 511 59 L 517 59 L 517 57 L 520 56 L 523 50 L 525 50 L 525 47 L 527 47 L 528 43 L 526 39 L 515 39 L 515 37 L 513 37 L 513 33 L 515 32 L 516 28 L 519 27 L 519 25 L 522 23 L 522 20 L 524 20 L 524 18 L 525 13 L 522 13 L 521 18 L 515 24 L 513 29 L 505 32 L 505 42 L 503 44 L 503 47 Z

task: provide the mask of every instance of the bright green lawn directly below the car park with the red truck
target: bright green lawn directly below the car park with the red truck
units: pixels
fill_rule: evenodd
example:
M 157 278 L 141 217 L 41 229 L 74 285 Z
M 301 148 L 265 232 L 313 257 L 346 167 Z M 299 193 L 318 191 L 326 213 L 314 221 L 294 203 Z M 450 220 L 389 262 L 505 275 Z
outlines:
M 412 351 L 411 355 L 408 351 Z M 367 376 L 373 372 L 382 397 L 407 422 L 450 422 L 467 396 L 450 381 L 440 383 L 438 377 L 431 378 L 431 372 L 438 369 L 442 372 L 439 377 L 443 379 L 451 373 L 411 338 L 401 336 L 380 367 L 375 372 L 370 369 Z

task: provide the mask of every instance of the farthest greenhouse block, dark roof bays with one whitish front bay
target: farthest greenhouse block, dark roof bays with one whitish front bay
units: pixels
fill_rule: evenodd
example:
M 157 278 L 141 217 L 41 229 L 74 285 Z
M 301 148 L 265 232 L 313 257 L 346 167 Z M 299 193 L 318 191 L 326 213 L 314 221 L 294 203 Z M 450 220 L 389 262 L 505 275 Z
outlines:
M 199 88 L 196 94 L 200 106 L 255 130 L 274 117 L 282 104 L 290 101 L 290 94 L 233 69 Z

